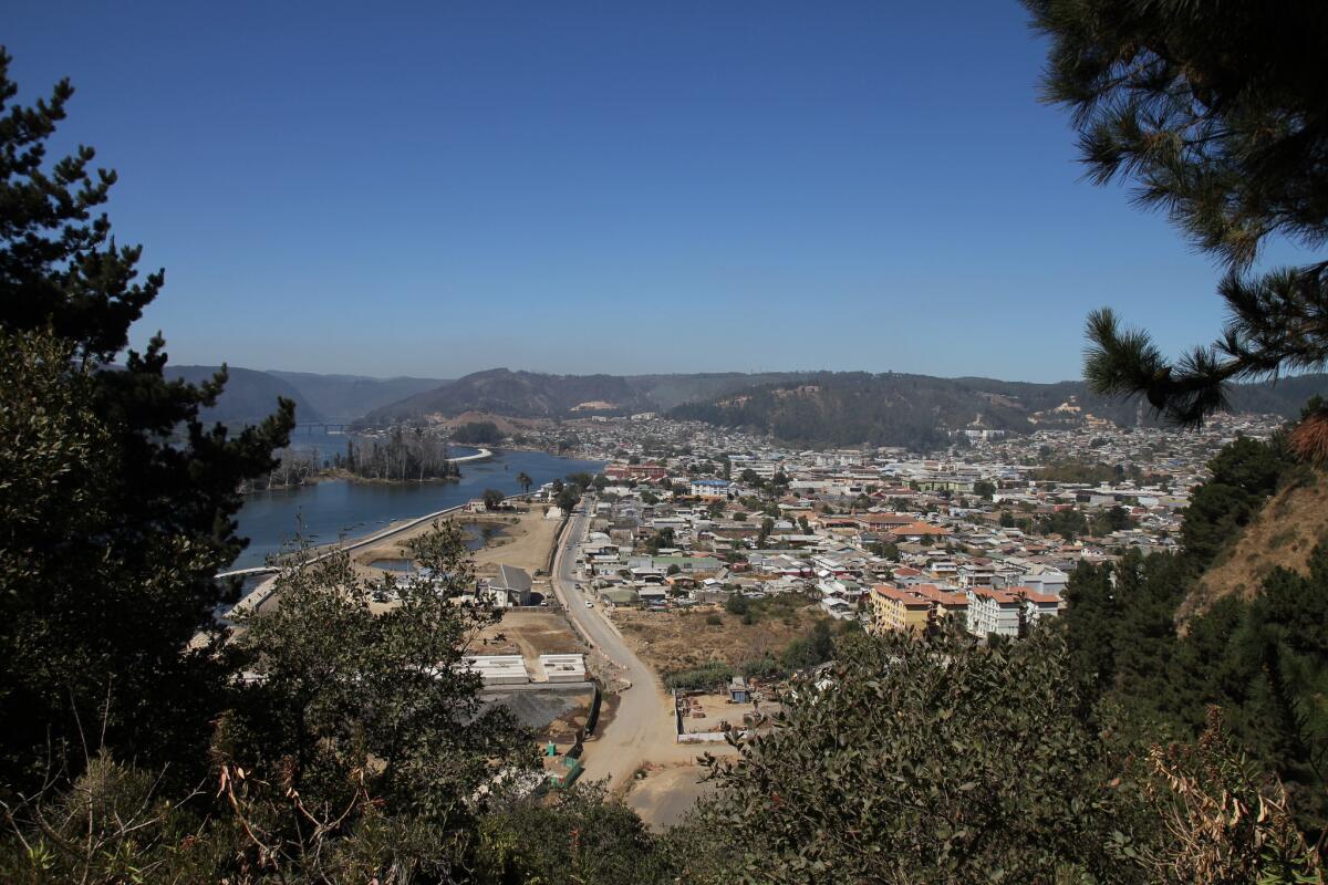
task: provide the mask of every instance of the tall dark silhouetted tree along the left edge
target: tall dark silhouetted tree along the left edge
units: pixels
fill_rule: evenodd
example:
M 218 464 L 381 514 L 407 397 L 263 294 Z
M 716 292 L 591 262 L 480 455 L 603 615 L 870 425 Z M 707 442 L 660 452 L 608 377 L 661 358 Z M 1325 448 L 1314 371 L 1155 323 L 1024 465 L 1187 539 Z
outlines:
M 202 418 L 224 370 L 167 381 L 159 336 L 125 353 L 165 277 L 139 279 L 139 247 L 97 214 L 116 175 L 93 150 L 46 155 L 73 88 L 13 103 L 9 62 L 0 50 L 0 779 L 31 783 L 37 760 L 77 774 L 89 734 L 189 776 L 220 679 L 206 642 L 185 649 L 243 549 L 239 490 L 276 467 L 293 403 L 231 434 Z

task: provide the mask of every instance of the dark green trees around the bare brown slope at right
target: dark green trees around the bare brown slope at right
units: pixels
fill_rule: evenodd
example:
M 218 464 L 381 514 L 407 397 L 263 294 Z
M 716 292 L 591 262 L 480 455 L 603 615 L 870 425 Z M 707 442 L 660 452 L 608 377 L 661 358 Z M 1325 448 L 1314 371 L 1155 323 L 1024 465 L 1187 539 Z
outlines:
M 1295 823 L 1315 841 L 1328 823 L 1328 551 L 1313 552 L 1308 575 L 1275 569 L 1248 601 L 1219 600 L 1183 638 L 1175 628 L 1195 577 L 1234 543 L 1288 464 L 1276 442 L 1227 446 L 1191 498 L 1185 553 L 1081 565 L 1062 625 L 1092 715 L 1114 711 L 1135 742 L 1190 739 L 1207 706 L 1220 705 L 1234 738 L 1286 784 Z

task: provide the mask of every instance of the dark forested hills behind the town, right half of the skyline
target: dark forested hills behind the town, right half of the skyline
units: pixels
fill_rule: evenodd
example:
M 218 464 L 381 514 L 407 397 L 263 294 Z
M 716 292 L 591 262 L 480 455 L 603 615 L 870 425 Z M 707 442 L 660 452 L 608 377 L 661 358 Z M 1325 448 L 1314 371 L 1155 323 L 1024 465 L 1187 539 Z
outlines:
M 1328 391 L 1328 375 L 1235 385 L 1231 407 L 1287 418 Z M 989 427 L 1028 433 L 1073 425 L 1092 415 L 1118 425 L 1153 421 L 1147 407 L 1097 395 L 1082 381 L 1029 383 L 991 378 L 934 378 L 910 374 L 815 373 L 684 403 L 672 417 L 768 433 L 794 443 L 910 446 L 943 442 L 947 430 Z

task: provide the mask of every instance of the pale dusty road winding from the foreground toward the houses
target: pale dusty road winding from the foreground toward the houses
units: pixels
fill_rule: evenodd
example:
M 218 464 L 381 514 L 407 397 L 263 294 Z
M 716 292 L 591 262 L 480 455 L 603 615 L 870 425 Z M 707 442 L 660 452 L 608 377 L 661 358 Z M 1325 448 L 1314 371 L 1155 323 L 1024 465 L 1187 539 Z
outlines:
M 552 585 L 582 636 L 588 637 L 620 667 L 619 675 L 632 683 L 619 694 L 612 720 L 598 739 L 586 744 L 582 759 L 588 779 L 608 778 L 614 787 L 622 788 L 641 763 L 689 759 L 696 751 L 675 743 L 669 697 L 653 670 L 608 625 L 599 605 L 587 608 L 588 596 L 576 589 L 576 545 L 586 537 L 594 507 L 594 499 L 587 498 L 582 512 L 572 516 L 563 533 L 554 560 Z

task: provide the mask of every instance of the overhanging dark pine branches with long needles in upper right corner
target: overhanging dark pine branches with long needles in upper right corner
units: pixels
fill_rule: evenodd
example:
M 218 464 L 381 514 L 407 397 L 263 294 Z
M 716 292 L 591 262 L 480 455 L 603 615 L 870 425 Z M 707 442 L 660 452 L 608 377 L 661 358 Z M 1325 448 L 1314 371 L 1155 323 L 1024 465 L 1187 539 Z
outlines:
M 1328 261 L 1254 269 L 1270 238 L 1328 238 L 1328 7 L 1024 0 L 1050 37 L 1045 98 L 1069 107 L 1096 183 L 1129 179 L 1226 267 L 1220 337 L 1169 360 L 1110 309 L 1090 314 L 1085 375 L 1197 423 L 1238 379 L 1323 368 Z M 1328 423 L 1319 410 L 1313 425 Z M 1307 433 L 1309 442 L 1325 434 Z M 1317 443 L 1316 443 L 1317 444 Z M 1304 454 L 1323 458 L 1328 446 Z

